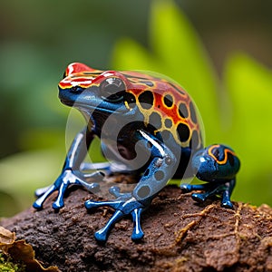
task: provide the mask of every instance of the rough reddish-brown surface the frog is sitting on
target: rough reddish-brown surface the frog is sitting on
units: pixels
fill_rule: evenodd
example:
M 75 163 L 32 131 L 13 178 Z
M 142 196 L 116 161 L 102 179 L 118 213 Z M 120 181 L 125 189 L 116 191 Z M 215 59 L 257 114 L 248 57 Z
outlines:
M 235 203 L 220 208 L 219 200 L 196 204 L 190 194 L 167 187 L 144 212 L 145 237 L 131 241 L 131 219 L 112 229 L 105 245 L 93 233 L 112 216 L 112 209 L 88 213 L 83 189 L 70 192 L 58 213 L 51 204 L 28 209 L 1 225 L 16 232 L 45 266 L 62 271 L 272 271 L 272 209 Z

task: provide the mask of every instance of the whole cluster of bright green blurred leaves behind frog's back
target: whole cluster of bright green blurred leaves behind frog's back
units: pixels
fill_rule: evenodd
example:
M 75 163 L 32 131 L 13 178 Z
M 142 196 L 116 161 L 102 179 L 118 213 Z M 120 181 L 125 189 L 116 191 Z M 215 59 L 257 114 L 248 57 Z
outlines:
M 242 167 L 233 199 L 272 203 L 272 73 L 242 53 L 229 57 L 219 82 L 198 35 L 170 1 L 153 3 L 147 50 L 130 38 L 113 54 L 116 69 L 153 70 L 181 83 L 199 107 L 206 144 L 222 142 Z M 129 57 L 128 57 L 129 56 Z

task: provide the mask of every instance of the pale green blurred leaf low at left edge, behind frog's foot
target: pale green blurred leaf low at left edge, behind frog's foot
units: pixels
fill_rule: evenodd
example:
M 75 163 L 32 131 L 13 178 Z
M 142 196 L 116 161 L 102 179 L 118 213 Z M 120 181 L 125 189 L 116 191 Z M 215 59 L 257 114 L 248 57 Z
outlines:
M 2 215 L 31 206 L 34 190 L 53 183 L 62 169 L 63 158 L 63 152 L 44 150 L 22 152 L 1 160 L 0 191 L 10 196 Z M 8 206 L 10 203 L 12 207 Z

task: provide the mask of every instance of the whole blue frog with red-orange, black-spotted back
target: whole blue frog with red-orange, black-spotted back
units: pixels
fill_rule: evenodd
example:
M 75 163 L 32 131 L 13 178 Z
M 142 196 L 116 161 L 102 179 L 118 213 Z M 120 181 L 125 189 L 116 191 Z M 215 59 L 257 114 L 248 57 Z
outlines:
M 82 112 L 87 125 L 74 138 L 58 179 L 36 190 L 35 209 L 42 209 L 53 191 L 58 191 L 53 209 L 61 209 L 70 185 L 95 193 L 105 174 L 116 172 L 130 173 L 139 181 L 131 192 L 112 187 L 115 199 L 85 202 L 86 209 L 107 206 L 115 210 L 105 227 L 95 232 L 98 241 L 106 241 L 114 224 L 127 215 L 133 220 L 132 240 L 141 239 L 142 211 L 172 178 L 196 176 L 206 181 L 181 184 L 180 188 L 183 192 L 197 190 L 191 196 L 198 202 L 221 196 L 221 206 L 233 209 L 230 195 L 240 165 L 238 157 L 225 145 L 203 148 L 198 111 L 177 83 L 146 73 L 100 71 L 72 63 L 59 83 L 59 98 Z M 88 166 L 83 160 L 94 137 L 100 138 L 109 162 Z

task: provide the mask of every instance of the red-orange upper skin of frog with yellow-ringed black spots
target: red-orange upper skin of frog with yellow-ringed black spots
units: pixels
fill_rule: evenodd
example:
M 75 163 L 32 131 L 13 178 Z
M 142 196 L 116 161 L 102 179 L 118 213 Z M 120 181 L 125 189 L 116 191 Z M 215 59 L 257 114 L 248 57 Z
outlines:
M 202 148 L 202 122 L 194 102 L 180 85 L 166 78 L 131 71 L 102 71 L 83 63 L 72 63 L 59 87 L 63 90 L 73 89 L 73 86 L 87 89 L 99 86 L 107 77 L 121 78 L 125 83 L 126 108 L 131 110 L 130 102 L 133 106 L 136 104 L 144 124 L 155 128 L 155 136 L 160 133 L 167 140 L 171 135 L 181 148 L 188 147 L 193 151 Z

